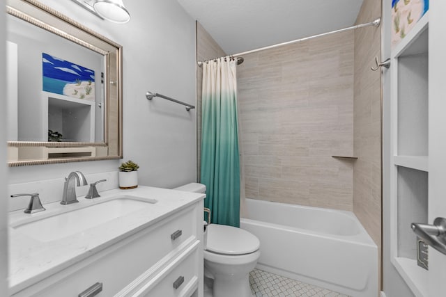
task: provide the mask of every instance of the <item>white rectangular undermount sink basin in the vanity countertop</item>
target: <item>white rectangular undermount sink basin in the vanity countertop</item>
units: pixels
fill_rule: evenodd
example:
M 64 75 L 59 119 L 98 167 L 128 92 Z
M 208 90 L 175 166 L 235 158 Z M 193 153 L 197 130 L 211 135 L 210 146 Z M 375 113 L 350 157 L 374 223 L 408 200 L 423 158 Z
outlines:
M 17 232 L 38 241 L 54 241 L 125 216 L 156 202 L 157 200 L 153 199 L 120 195 L 104 202 L 79 207 L 52 216 L 44 216 L 31 221 L 25 220 L 11 227 Z

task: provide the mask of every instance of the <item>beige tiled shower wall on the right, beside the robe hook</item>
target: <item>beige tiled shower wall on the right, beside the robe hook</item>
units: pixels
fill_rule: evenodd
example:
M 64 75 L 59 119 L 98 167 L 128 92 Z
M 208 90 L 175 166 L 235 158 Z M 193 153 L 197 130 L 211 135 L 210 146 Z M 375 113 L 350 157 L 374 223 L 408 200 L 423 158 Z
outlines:
M 364 0 L 356 24 L 381 15 L 381 1 Z M 381 79 L 373 72 L 381 56 L 381 27 L 355 31 L 353 212 L 380 252 L 381 246 Z

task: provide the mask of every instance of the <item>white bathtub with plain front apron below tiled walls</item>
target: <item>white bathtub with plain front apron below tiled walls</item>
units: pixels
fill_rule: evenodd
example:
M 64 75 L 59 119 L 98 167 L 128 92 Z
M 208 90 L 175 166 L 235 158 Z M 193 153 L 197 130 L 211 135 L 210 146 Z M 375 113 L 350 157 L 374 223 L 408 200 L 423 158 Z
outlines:
M 257 268 L 354 297 L 378 296 L 378 249 L 350 211 L 246 200 Z

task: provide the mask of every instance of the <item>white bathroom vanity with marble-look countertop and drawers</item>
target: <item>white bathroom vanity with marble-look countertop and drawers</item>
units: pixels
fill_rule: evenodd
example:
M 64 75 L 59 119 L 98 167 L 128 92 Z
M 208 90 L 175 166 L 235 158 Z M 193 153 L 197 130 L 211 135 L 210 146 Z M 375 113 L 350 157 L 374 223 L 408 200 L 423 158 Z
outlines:
M 10 295 L 203 296 L 203 198 L 139 186 L 10 213 Z

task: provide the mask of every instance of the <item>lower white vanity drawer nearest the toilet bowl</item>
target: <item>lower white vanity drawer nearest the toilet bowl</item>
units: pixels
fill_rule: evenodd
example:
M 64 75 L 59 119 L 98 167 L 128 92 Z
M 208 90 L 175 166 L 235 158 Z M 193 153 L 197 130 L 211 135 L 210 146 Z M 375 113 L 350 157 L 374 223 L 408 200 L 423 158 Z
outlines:
M 116 296 L 138 297 L 190 297 L 198 289 L 199 241 L 178 255 L 157 275 L 148 271 Z

